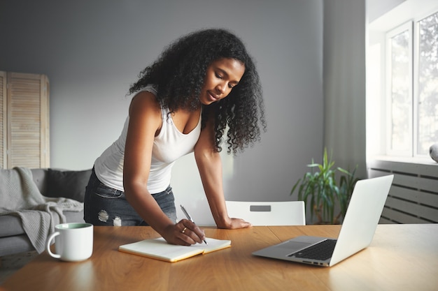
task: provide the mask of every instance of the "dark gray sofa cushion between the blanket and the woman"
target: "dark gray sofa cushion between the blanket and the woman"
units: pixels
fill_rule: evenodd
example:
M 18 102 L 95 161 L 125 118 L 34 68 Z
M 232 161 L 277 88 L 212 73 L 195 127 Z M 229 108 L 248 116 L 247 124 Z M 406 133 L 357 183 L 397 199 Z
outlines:
M 84 202 L 85 186 L 90 179 L 91 169 L 83 171 L 62 171 L 48 169 L 47 197 L 66 197 Z

